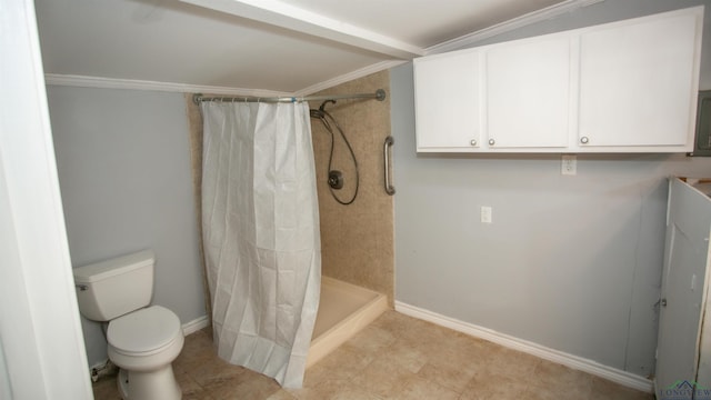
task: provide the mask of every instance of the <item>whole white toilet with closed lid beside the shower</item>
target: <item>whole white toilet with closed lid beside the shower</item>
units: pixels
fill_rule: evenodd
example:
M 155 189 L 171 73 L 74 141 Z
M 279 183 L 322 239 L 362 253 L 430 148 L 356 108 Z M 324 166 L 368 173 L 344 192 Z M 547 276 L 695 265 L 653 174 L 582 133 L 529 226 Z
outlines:
M 74 268 L 81 314 L 109 321 L 109 359 L 120 368 L 126 400 L 177 400 L 182 397 L 171 362 L 183 344 L 180 320 L 150 304 L 153 294 L 151 250 Z

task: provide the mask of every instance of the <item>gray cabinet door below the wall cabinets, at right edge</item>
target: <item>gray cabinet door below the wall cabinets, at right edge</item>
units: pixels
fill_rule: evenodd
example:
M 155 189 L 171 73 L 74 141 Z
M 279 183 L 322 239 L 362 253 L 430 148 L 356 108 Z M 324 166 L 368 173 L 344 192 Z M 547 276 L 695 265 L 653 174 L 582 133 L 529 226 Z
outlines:
M 669 190 L 654 379 L 659 399 L 669 399 L 669 390 L 688 389 L 677 386 L 697 379 L 711 227 L 707 196 L 679 179 L 671 181 Z

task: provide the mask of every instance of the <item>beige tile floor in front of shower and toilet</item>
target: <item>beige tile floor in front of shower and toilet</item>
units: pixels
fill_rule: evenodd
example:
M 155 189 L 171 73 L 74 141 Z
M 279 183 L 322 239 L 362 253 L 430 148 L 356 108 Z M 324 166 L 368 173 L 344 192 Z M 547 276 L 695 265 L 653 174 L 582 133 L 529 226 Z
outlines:
M 388 311 L 311 367 L 303 389 L 221 361 L 209 330 L 189 336 L 173 363 L 183 399 L 647 399 L 613 382 Z M 94 398 L 119 399 L 116 380 Z

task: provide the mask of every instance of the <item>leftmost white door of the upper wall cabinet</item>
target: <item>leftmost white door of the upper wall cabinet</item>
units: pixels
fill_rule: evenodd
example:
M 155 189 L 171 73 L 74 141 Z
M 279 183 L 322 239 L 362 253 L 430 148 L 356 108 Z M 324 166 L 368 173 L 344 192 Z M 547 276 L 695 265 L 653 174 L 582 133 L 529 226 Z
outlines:
M 419 151 L 480 146 L 479 52 L 414 60 Z

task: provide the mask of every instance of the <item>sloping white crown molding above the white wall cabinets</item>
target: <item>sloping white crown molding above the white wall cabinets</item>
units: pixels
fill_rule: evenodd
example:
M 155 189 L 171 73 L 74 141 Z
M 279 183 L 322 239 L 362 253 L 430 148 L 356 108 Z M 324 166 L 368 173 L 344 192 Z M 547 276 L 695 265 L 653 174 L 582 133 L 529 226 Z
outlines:
M 459 38 L 431 46 L 424 49 L 424 52 L 425 54 L 438 54 L 447 51 L 468 48 L 483 39 L 491 38 L 504 32 L 509 32 L 514 29 L 525 27 L 535 22 L 545 21 L 545 20 L 555 18 L 558 16 L 569 13 L 580 8 L 588 7 L 602 1 L 605 1 L 605 0 L 565 0 L 558 4 L 553 4 L 533 12 L 529 12 L 524 16 L 521 16 L 501 23 L 497 23 L 489 28 L 484 28 L 475 32 L 464 34 Z

